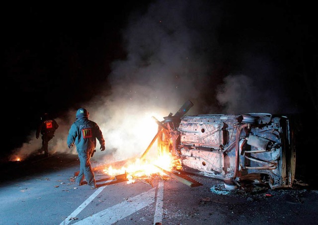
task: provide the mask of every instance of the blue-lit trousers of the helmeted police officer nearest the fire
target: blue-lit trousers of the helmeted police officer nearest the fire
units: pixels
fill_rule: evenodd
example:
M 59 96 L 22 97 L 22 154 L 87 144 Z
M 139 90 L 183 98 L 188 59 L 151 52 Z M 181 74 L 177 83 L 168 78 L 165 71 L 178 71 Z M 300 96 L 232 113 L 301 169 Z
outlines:
M 84 178 L 89 186 L 95 186 L 96 181 L 93 169 L 90 165 L 91 152 L 78 152 L 79 153 L 79 175 L 76 178 L 76 183 L 80 184 Z

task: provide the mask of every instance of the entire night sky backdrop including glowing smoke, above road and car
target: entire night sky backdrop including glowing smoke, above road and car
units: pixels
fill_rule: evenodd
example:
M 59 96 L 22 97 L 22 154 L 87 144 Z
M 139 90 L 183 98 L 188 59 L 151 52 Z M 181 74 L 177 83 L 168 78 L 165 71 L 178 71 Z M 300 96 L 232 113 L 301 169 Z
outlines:
M 43 112 L 61 125 L 52 148 L 67 151 L 80 107 L 118 158 L 152 140 L 139 127 L 143 118 L 162 120 L 188 99 L 188 114 L 318 119 L 314 3 L 144 0 L 2 10 L 5 152 L 38 148 Z

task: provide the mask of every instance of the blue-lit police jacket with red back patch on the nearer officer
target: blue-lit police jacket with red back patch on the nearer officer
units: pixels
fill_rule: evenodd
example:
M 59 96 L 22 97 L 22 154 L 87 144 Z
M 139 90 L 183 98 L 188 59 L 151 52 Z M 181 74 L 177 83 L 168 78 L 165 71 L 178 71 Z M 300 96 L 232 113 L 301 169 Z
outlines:
M 71 125 L 67 144 L 70 148 L 75 143 L 78 152 L 90 152 L 96 147 L 96 139 L 100 146 L 105 146 L 105 140 L 98 125 L 88 118 L 79 118 Z

